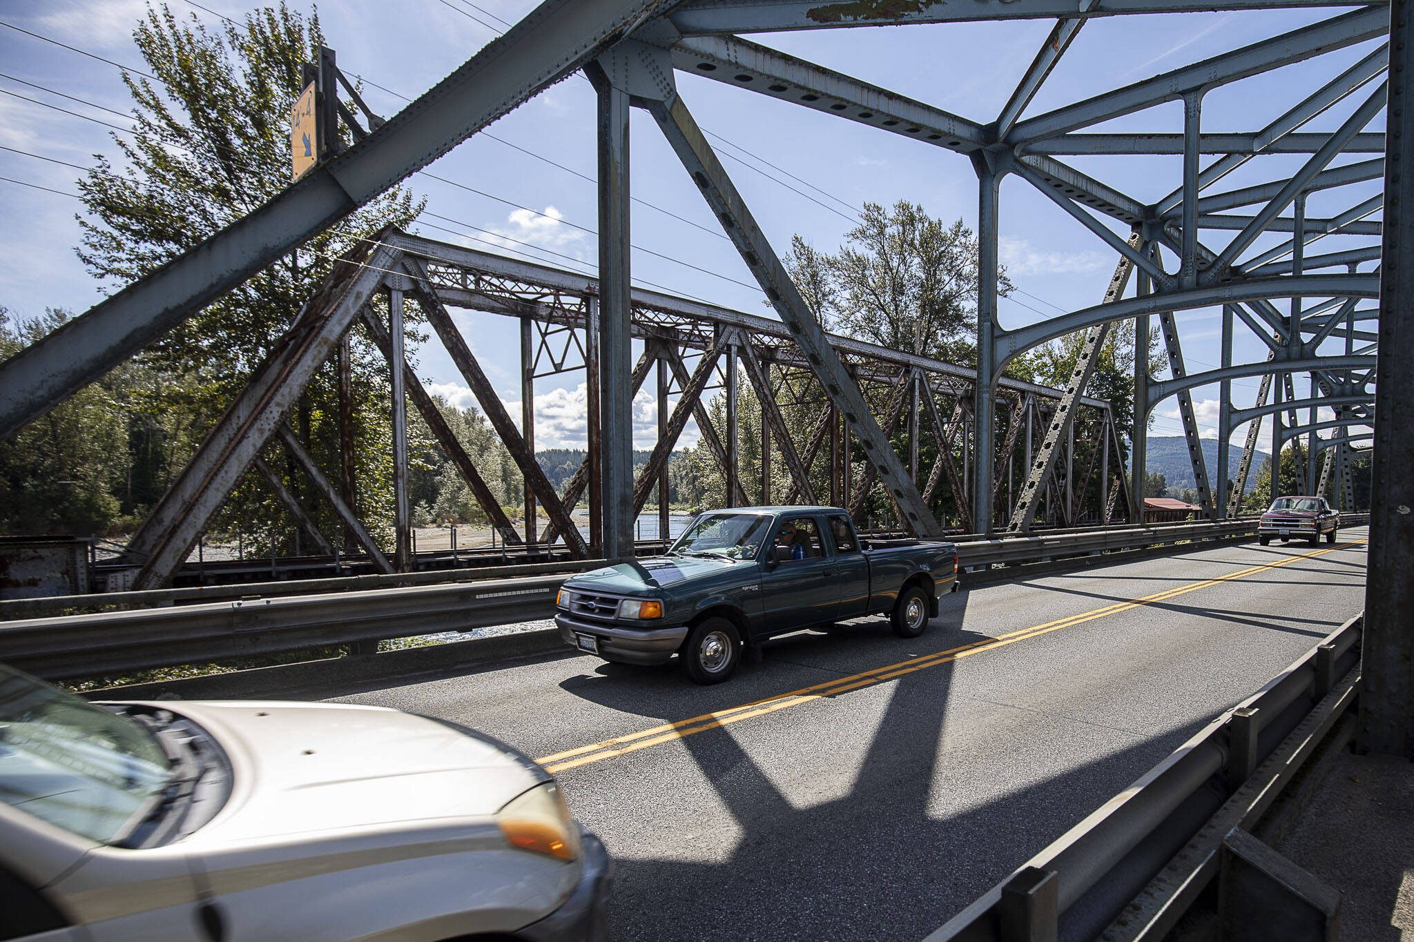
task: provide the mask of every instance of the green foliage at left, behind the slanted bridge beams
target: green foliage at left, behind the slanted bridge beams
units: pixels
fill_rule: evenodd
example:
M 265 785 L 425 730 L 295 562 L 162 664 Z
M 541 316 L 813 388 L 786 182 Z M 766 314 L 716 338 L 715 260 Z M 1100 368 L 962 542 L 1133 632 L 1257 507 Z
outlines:
M 113 136 L 120 160 L 99 155 L 79 184 L 90 215 L 79 217 L 83 234 L 76 251 L 112 288 L 150 274 L 288 185 L 288 112 L 303 88 L 301 64 L 315 58 L 322 32 L 315 13 L 304 17 L 283 3 L 218 28 L 160 4 L 148 6 L 133 41 L 157 79 L 124 73 L 136 134 Z M 25 429 L 7 445 L 7 455 L 21 443 L 38 449 L 28 463 L 7 459 L 3 525 L 93 532 L 140 520 L 281 343 L 334 260 L 385 226 L 407 223 L 420 209 L 406 189 L 389 191 Z M 417 315 L 411 308 L 410 316 Z M 18 349 L 62 318 L 51 312 L 31 325 L 7 325 L 4 342 Z M 410 340 L 419 339 L 413 330 Z M 359 511 L 368 521 L 386 521 L 389 370 L 356 332 L 351 366 Z M 332 364 L 315 374 L 290 421 L 324 467 L 339 466 Z M 426 451 L 426 429 L 413 425 L 410 446 Z M 45 435 L 48 445 L 37 442 Z M 321 530 L 334 534 L 332 513 L 321 508 L 303 473 L 277 449 L 269 449 L 267 459 Z M 242 528 L 247 545 L 263 549 L 262 539 L 284 545 L 294 524 L 264 482 L 247 475 L 215 528 Z M 372 528 L 387 531 L 386 524 Z

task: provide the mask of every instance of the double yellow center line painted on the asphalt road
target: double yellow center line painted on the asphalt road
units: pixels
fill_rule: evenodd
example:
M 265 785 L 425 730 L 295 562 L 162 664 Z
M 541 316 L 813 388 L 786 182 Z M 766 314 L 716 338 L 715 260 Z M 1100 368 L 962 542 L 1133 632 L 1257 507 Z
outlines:
M 768 696 L 759 700 L 751 700 L 749 703 L 741 703 L 740 706 L 732 706 L 723 710 L 714 710 L 711 713 L 703 713 L 701 716 L 693 716 L 690 719 L 677 720 L 676 723 L 663 723 L 660 726 L 653 726 L 650 729 L 639 730 L 638 733 L 629 733 L 626 736 L 619 736 L 615 739 L 607 739 L 601 743 L 591 743 L 588 746 L 567 749 L 563 753 L 542 756 L 536 761 L 544 765 L 546 770 L 550 773 L 563 773 L 570 768 L 578 768 L 580 765 L 602 763 L 605 758 L 614 758 L 617 756 L 624 756 L 626 753 L 636 753 L 641 749 L 649 749 L 650 746 L 659 746 L 662 743 L 672 743 L 693 736 L 696 733 L 706 733 L 710 729 L 720 729 L 731 723 L 740 723 L 742 720 L 748 720 L 756 716 L 765 716 L 766 713 L 775 713 L 776 710 L 783 710 L 790 706 L 799 706 L 800 703 L 810 703 L 813 700 L 820 700 L 827 696 L 834 696 L 837 693 L 857 691 L 864 686 L 872 686 L 875 684 L 882 684 L 885 681 L 892 681 L 894 678 L 904 676 L 905 674 L 923 671 L 930 667 L 937 667 L 940 664 L 950 664 L 953 661 L 970 657 L 973 654 L 981 654 L 983 651 L 994 651 L 997 648 L 1007 647 L 1008 644 L 1015 644 L 1017 641 L 1025 641 L 1027 638 L 1034 638 L 1041 634 L 1049 634 L 1051 631 L 1059 631 L 1060 628 L 1069 628 L 1070 626 L 1075 624 L 1083 624 L 1086 621 L 1094 621 L 1096 619 L 1103 619 L 1111 614 L 1120 614 L 1121 612 L 1128 612 L 1130 609 L 1138 609 L 1140 606 L 1157 604 L 1159 602 L 1167 602 L 1181 595 L 1188 595 L 1189 592 L 1198 592 L 1199 589 L 1208 589 L 1209 586 L 1216 586 L 1223 582 L 1232 582 L 1234 579 L 1243 579 L 1246 576 L 1258 572 L 1267 572 L 1268 569 L 1285 566 L 1299 559 L 1324 556 L 1328 552 L 1335 552 L 1336 549 L 1345 549 L 1346 547 L 1356 547 L 1363 542 L 1366 541 L 1356 539 L 1352 542 L 1336 544 L 1325 549 L 1314 549 L 1311 552 L 1304 552 L 1294 556 L 1285 556 L 1284 559 L 1278 559 L 1275 562 L 1263 562 L 1260 565 L 1247 566 L 1246 569 L 1237 569 L 1234 572 L 1229 572 L 1222 576 L 1215 576 L 1212 579 L 1203 579 L 1200 582 L 1189 582 L 1188 585 L 1176 586 L 1174 589 L 1155 592 L 1154 595 L 1143 596 L 1140 599 L 1116 602 L 1114 604 L 1107 604 L 1103 609 L 1092 609 L 1090 612 L 1082 612 L 1080 614 L 1072 614 L 1069 617 L 1058 619 L 1055 621 L 1034 624 L 1029 628 L 1019 628 L 1017 631 L 1011 631 L 1008 634 L 1003 634 L 995 638 L 981 638 L 978 641 L 971 641 L 970 644 L 962 644 L 954 648 L 947 648 L 946 651 L 935 651 L 933 654 L 925 654 L 921 657 L 911 658 L 908 661 L 899 661 L 898 664 L 877 667 L 870 671 L 861 671 L 860 674 L 851 674 L 848 676 L 833 678 L 822 684 L 803 686 L 799 691 L 790 691 L 789 693 L 776 693 L 773 696 Z

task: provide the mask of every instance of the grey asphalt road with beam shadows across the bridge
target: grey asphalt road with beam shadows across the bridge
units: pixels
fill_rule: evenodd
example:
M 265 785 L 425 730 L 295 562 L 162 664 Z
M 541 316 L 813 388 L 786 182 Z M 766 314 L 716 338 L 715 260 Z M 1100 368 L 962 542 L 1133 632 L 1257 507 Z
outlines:
M 1363 538 L 964 589 L 918 640 L 805 631 L 711 688 L 566 650 L 318 695 L 550 767 L 615 939 L 916 939 L 1357 613 Z

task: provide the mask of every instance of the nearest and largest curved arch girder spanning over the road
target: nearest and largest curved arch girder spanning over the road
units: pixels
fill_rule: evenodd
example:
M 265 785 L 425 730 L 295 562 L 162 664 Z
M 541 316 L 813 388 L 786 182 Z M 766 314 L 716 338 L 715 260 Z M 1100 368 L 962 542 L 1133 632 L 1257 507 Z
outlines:
M 1048 340 L 1083 330 L 1096 323 L 1130 321 L 1140 314 L 1192 311 L 1196 308 L 1236 304 L 1239 301 L 1292 297 L 1377 298 L 1379 275 L 1359 273 L 1247 278 L 1217 285 L 1126 298 L 1114 304 L 1100 304 L 1093 308 L 1062 314 L 1014 330 L 998 330 L 997 346 L 998 353 L 1010 360 L 1022 350 L 1041 346 Z

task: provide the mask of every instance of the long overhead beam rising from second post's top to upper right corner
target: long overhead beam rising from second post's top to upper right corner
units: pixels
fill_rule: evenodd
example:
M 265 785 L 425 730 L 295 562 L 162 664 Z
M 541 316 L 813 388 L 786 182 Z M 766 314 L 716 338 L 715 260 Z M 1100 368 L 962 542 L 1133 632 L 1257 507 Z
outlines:
M 1182 97 L 1185 92 L 1209 90 L 1315 55 L 1343 49 L 1386 32 L 1389 32 L 1389 16 L 1383 8 L 1346 13 L 1019 121 L 1007 137 L 1007 143 L 1024 144 L 1065 134 L 1171 102 Z

